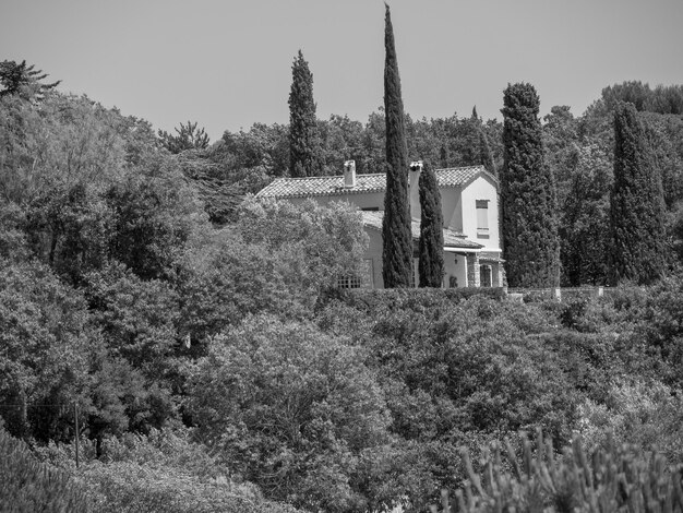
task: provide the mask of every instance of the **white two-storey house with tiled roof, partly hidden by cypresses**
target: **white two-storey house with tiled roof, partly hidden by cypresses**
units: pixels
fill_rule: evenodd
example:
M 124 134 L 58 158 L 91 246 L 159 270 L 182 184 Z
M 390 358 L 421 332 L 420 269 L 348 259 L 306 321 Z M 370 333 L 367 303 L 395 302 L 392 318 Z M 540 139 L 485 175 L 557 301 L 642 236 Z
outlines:
M 420 237 L 418 180 L 421 163 L 410 166 L 410 215 L 417 279 L 417 241 Z M 503 261 L 499 234 L 499 182 L 483 166 L 436 169 L 444 219 L 444 288 L 500 287 Z M 320 204 L 347 201 L 362 214 L 370 244 L 364 255 L 363 276 L 350 278 L 347 287 L 383 288 L 382 216 L 386 176 L 356 175 L 356 163 L 345 163 L 344 176 L 277 178 L 256 198 L 274 198 L 300 203 L 312 199 Z

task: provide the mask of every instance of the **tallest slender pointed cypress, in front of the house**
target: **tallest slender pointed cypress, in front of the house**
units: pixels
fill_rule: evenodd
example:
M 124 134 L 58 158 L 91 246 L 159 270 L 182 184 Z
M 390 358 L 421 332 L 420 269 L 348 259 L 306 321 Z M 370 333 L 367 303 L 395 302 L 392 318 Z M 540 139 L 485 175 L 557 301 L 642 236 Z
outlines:
M 410 286 L 412 238 L 408 203 L 408 148 L 404 104 L 388 5 L 384 19 L 384 115 L 386 122 L 386 193 L 382 222 L 382 277 L 385 288 Z

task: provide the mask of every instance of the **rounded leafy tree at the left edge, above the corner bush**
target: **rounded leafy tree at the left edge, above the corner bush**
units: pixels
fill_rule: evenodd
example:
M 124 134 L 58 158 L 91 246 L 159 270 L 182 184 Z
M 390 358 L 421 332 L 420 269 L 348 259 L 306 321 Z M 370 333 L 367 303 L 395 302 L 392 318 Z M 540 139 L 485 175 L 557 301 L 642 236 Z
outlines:
M 12 434 L 68 433 L 98 343 L 85 301 L 49 269 L 0 261 L 0 414 Z

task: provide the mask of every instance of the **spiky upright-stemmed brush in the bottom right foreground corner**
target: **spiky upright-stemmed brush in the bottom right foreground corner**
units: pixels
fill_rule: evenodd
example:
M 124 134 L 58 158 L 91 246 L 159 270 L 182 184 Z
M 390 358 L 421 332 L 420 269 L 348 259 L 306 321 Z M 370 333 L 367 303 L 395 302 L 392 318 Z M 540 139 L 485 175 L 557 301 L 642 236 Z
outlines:
M 483 458 L 481 474 L 464 452 L 468 479 L 455 492 L 457 509 L 443 490 L 441 510 L 431 505 L 432 513 L 683 512 L 682 468 L 670 468 L 658 454 L 610 443 L 589 458 L 577 437 L 558 457 L 540 431 L 536 455 L 526 439 L 522 462 L 508 441 L 504 452 L 512 470 L 503 469 L 501 448 L 494 445 Z

